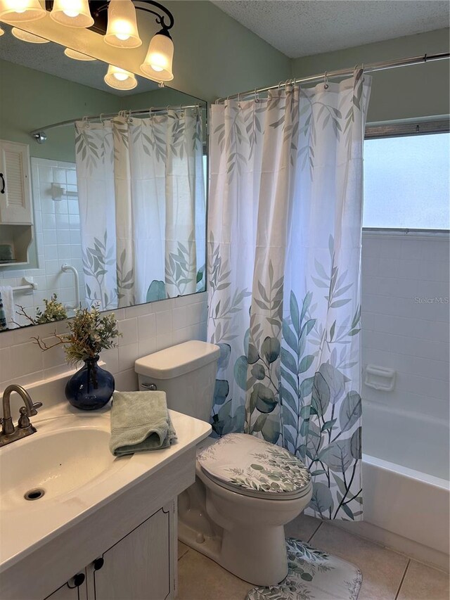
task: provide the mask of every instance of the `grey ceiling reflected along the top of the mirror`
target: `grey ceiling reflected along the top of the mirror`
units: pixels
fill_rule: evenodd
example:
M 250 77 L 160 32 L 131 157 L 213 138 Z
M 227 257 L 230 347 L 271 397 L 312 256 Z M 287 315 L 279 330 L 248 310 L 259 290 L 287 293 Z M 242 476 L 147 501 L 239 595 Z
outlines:
M 95 89 L 107 91 L 109 94 L 117 96 L 129 96 L 131 94 L 141 94 L 143 91 L 152 91 L 158 89 L 158 84 L 138 77 L 138 87 L 131 90 L 120 90 L 109 87 L 103 81 L 108 65 L 101 60 L 72 60 L 65 56 L 63 46 L 58 44 L 28 44 L 21 42 L 11 34 L 11 26 L 1 23 L 5 34 L 0 37 L 0 58 L 8 60 L 16 65 L 30 67 L 37 71 L 56 75 L 62 79 L 80 83 Z

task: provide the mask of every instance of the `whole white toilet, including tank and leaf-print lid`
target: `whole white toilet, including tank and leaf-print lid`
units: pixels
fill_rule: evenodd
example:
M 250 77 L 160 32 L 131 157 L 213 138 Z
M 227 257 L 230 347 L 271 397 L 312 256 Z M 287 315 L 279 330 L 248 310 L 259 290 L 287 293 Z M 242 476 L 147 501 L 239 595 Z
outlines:
M 210 421 L 219 347 L 189 341 L 135 362 L 139 389 L 166 392 L 167 406 Z M 179 540 L 253 585 L 288 574 L 284 525 L 309 504 L 300 459 L 254 435 L 228 433 L 197 447 L 195 483 L 179 496 Z

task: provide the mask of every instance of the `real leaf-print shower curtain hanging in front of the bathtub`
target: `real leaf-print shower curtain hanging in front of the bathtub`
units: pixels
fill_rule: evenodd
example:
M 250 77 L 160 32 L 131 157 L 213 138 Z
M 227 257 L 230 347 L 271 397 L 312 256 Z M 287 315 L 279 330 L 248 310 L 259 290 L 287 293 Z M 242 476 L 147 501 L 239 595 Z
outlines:
M 369 89 L 356 68 L 339 84 L 217 104 L 210 139 L 208 340 L 221 349 L 214 432 L 283 445 L 311 471 L 309 512 L 352 521 L 362 515 Z

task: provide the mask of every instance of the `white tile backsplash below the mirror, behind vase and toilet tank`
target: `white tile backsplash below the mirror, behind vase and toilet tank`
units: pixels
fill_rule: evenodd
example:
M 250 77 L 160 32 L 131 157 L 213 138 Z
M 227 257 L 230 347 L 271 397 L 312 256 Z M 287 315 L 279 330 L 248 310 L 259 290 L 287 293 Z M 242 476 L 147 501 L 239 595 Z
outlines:
M 101 360 L 115 376 L 116 388 L 137 389 L 136 358 L 187 340 L 206 340 L 206 300 L 203 292 L 113 311 L 123 337 L 117 348 L 101 353 Z M 179 310 L 184 320 L 175 323 Z M 61 321 L 58 331 L 64 328 Z M 30 340 L 38 335 L 49 338 L 54 330 L 55 324 L 46 324 L 0 333 L 0 393 L 9 383 L 26 385 L 68 370 L 61 347 L 41 352 Z

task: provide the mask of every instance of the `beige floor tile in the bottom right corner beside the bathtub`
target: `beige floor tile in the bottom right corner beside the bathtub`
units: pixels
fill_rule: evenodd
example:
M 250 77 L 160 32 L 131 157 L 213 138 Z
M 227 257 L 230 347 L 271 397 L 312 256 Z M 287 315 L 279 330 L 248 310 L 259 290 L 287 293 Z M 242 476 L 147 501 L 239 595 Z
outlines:
M 411 561 L 398 600 L 449 600 L 449 573 Z

